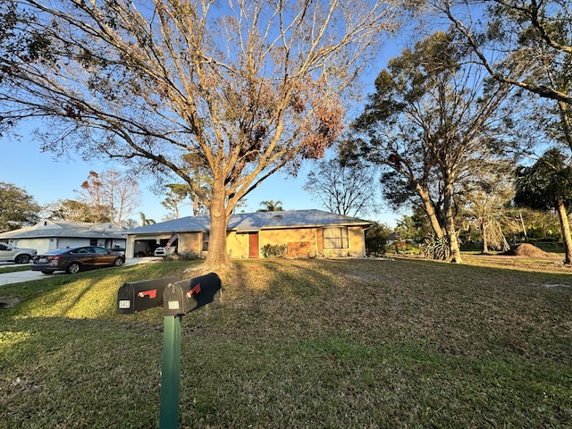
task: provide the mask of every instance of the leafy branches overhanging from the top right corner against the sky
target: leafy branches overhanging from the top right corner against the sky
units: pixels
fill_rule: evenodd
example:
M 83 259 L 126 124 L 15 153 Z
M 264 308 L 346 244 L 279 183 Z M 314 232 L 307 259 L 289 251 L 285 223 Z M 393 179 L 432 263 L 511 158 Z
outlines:
M 493 79 L 572 105 L 568 0 L 430 1 L 453 23 Z M 483 19 L 472 16 L 483 12 Z

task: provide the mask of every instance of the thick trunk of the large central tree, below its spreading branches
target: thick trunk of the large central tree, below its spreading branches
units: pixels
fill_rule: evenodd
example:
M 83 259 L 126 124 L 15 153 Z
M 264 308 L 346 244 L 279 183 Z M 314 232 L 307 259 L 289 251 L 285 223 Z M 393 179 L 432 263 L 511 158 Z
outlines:
M 229 222 L 229 215 L 226 211 L 223 188 L 223 184 L 214 183 L 213 196 L 209 205 L 211 230 L 208 237 L 205 265 L 212 270 L 226 268 L 231 265 L 231 258 L 226 252 L 226 228 Z

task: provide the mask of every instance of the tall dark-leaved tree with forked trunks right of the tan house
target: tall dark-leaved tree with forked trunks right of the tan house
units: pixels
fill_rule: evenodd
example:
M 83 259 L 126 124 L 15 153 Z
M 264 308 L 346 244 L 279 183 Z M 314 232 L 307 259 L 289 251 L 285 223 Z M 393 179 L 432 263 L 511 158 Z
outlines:
M 404 49 L 377 76 L 344 149 L 382 167 L 393 206 L 423 207 L 456 262 L 458 195 L 501 155 L 509 117 L 501 108 L 509 85 L 490 86 L 470 59 L 451 32 Z

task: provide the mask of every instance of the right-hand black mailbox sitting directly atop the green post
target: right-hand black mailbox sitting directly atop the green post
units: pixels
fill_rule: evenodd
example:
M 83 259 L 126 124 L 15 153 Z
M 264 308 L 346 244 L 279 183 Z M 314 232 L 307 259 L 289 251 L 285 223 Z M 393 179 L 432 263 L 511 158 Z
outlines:
M 214 301 L 214 295 L 221 289 L 221 279 L 215 273 L 208 273 L 181 282 L 172 282 L 164 290 L 164 315 L 186 315 Z

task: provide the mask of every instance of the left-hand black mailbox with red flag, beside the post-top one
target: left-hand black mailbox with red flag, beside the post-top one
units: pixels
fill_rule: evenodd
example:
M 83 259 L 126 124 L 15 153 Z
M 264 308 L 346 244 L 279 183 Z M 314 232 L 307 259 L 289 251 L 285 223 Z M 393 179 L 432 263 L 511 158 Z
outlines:
M 117 314 L 132 315 L 153 307 L 163 307 L 164 290 L 177 277 L 123 283 L 117 292 Z

